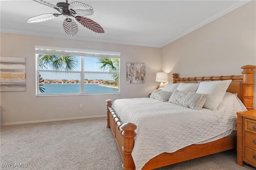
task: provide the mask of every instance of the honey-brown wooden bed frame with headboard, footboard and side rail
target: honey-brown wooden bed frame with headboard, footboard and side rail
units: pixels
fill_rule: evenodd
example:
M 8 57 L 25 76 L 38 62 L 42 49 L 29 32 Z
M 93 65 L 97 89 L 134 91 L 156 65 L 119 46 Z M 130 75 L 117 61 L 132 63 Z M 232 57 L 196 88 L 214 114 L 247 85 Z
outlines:
M 173 83 L 177 82 L 198 82 L 213 80 L 232 80 L 227 92 L 237 93 L 238 98 L 244 103 L 248 110 L 253 109 L 253 86 L 254 86 L 254 68 L 255 66 L 246 65 L 240 76 L 211 76 L 211 77 L 194 77 L 194 78 L 178 78 L 178 74 L 174 73 Z M 124 170 L 135 170 L 134 161 L 132 159 L 132 149 L 134 147 L 134 138 L 136 136 L 137 126 L 133 123 L 122 124 L 116 113 L 112 109 L 112 100 L 106 100 L 107 105 L 107 128 L 111 128 L 114 136 L 120 158 L 123 162 Z M 142 170 L 151 170 L 175 164 L 178 162 L 199 158 L 225 150 L 236 148 L 236 136 L 228 136 L 208 142 L 205 144 L 192 144 L 182 148 L 174 153 L 164 152 L 150 159 L 142 168 Z

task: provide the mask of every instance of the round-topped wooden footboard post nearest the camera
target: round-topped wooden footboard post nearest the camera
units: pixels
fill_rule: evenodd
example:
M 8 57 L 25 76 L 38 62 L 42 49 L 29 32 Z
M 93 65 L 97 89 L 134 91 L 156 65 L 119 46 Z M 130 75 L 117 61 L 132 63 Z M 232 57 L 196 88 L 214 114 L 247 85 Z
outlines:
M 125 123 L 121 128 L 123 130 L 122 136 L 124 138 L 124 146 L 122 148 L 124 153 L 123 168 L 124 170 L 135 170 L 135 165 L 132 159 L 132 149 L 134 146 L 134 137 L 136 136 L 134 130 L 137 126 L 133 123 Z

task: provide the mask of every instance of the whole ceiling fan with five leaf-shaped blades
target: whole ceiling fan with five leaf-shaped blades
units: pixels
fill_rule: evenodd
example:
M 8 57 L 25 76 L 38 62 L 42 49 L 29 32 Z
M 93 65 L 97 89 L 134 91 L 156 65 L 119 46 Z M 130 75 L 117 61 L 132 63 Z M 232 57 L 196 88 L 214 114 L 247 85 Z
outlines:
M 48 2 L 45 2 L 43 0 L 33 0 L 35 2 L 39 2 L 40 4 L 44 4 L 47 6 L 50 6 L 54 9 L 56 9 L 60 14 L 52 13 L 52 14 L 41 14 L 38 16 L 34 16 L 32 18 L 29 18 L 27 20 L 28 23 L 34 23 L 34 22 L 43 22 L 47 20 L 51 20 L 53 18 L 56 18 L 60 15 L 63 15 L 65 17 L 63 22 L 63 28 L 66 34 L 70 36 L 75 36 L 78 32 L 78 25 L 74 20 L 72 20 L 72 17 L 76 19 L 77 22 L 82 24 L 82 26 L 97 32 L 97 33 L 104 33 L 103 28 L 98 24 L 97 22 L 91 20 L 90 18 L 86 18 L 85 16 L 89 16 L 93 14 L 93 9 L 91 6 L 84 4 L 82 2 L 71 2 L 68 3 L 68 0 L 66 2 L 59 2 L 58 4 L 50 4 Z

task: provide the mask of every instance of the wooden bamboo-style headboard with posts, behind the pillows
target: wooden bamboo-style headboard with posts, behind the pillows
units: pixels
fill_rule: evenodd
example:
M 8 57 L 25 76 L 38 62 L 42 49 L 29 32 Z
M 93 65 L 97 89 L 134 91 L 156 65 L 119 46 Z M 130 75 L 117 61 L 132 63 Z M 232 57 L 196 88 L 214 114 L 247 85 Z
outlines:
M 228 86 L 227 92 L 237 93 L 238 98 L 244 103 L 247 110 L 253 110 L 253 86 L 254 86 L 254 68 L 255 66 L 246 65 L 241 67 L 243 69 L 240 76 L 211 76 L 211 77 L 193 77 L 193 78 L 179 78 L 177 73 L 172 74 L 173 83 L 189 82 L 198 83 L 200 81 L 214 81 L 214 80 L 232 80 Z

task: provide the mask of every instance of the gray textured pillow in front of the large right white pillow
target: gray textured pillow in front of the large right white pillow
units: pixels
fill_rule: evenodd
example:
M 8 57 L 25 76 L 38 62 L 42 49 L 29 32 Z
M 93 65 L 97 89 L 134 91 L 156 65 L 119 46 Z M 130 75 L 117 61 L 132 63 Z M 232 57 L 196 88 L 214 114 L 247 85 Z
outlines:
M 168 102 L 200 110 L 204 106 L 207 96 L 208 94 L 174 90 Z

